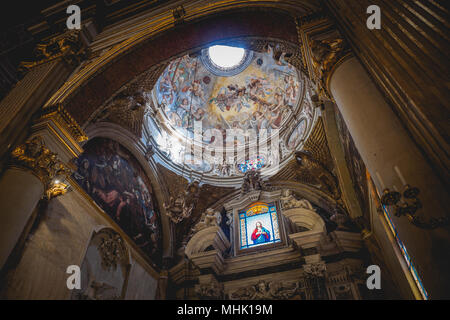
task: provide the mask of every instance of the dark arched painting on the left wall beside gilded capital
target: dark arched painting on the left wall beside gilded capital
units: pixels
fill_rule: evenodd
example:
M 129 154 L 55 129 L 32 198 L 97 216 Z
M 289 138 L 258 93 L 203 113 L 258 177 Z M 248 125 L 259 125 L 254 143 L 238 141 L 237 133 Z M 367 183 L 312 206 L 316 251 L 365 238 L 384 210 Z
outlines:
M 151 184 L 131 153 L 95 138 L 84 146 L 73 178 L 152 261 L 161 260 L 161 221 Z

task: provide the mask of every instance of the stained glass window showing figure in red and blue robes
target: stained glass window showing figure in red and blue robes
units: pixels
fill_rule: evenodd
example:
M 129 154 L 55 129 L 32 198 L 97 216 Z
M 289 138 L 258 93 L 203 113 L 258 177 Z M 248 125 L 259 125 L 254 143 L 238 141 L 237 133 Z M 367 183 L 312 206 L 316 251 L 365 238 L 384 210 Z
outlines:
M 239 212 L 240 248 L 281 242 L 275 204 L 257 202 Z

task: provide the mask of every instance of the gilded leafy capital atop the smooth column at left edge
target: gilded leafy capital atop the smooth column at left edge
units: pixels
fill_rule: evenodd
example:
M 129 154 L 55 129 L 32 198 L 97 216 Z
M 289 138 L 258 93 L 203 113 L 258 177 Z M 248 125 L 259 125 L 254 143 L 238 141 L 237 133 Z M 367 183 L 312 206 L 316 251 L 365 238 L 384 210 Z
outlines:
M 57 154 L 44 145 L 39 136 L 12 151 L 10 166 L 30 171 L 41 180 L 46 189 L 50 188 L 53 179 L 61 177 L 63 180 L 72 173 L 72 170 L 58 159 Z

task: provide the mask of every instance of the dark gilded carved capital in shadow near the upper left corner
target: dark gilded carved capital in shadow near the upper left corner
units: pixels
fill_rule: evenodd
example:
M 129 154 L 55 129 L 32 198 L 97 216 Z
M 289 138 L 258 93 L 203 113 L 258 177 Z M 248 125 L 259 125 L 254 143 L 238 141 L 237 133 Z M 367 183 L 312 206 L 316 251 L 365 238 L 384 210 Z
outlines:
M 34 51 L 35 61 L 21 62 L 19 71 L 26 73 L 36 66 L 58 58 L 62 58 L 70 66 L 79 65 L 87 56 L 87 50 L 79 37 L 79 32 L 79 30 L 71 30 L 38 44 Z

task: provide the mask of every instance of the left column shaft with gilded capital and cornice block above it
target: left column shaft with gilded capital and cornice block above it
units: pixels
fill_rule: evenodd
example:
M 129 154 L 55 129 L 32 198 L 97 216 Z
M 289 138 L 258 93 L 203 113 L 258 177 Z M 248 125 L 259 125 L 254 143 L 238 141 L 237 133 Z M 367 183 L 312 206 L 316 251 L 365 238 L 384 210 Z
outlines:
M 40 199 L 66 192 L 71 160 L 83 152 L 83 130 L 62 106 L 44 108 L 25 143 L 11 153 L 0 177 L 0 269 Z

